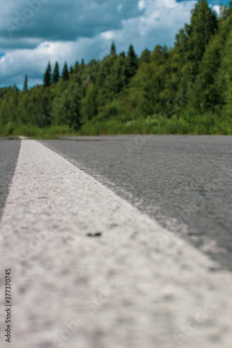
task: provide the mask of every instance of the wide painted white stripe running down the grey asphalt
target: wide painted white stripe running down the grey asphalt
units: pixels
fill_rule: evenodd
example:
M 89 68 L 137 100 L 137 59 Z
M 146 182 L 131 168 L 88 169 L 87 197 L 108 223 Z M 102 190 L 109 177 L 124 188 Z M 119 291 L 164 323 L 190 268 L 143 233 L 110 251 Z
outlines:
M 0 231 L 12 347 L 231 347 L 231 274 L 37 141 Z

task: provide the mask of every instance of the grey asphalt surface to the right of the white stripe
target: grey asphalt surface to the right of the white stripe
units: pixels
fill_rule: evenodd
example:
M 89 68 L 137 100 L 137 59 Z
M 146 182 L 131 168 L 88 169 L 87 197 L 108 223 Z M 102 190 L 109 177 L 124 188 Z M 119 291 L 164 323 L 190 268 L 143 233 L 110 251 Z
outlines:
M 102 136 L 41 143 L 231 271 L 231 136 Z

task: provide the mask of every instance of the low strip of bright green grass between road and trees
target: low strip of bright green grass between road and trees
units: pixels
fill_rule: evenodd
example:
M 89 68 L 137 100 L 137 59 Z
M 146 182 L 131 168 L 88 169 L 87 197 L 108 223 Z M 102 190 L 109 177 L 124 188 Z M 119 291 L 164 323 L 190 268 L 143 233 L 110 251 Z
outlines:
M 110 134 L 186 134 L 186 135 L 232 135 L 232 118 L 219 118 L 212 113 L 189 117 L 165 118 L 162 115 L 148 116 L 137 120 L 92 119 L 82 125 L 79 131 L 68 127 L 52 125 L 40 128 L 35 125 L 13 125 L 0 128 L 0 136 L 28 136 L 38 139 L 56 139 L 60 136 L 98 136 Z

